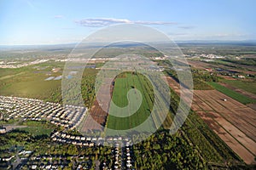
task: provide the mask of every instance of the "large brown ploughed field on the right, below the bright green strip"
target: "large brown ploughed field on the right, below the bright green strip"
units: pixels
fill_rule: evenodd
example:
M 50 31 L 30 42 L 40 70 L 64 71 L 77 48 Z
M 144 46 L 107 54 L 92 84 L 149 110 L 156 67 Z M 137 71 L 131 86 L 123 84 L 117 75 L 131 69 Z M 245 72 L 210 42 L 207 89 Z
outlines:
M 167 81 L 179 94 L 179 84 Z M 247 164 L 256 163 L 256 111 L 217 90 L 195 90 L 191 109 Z

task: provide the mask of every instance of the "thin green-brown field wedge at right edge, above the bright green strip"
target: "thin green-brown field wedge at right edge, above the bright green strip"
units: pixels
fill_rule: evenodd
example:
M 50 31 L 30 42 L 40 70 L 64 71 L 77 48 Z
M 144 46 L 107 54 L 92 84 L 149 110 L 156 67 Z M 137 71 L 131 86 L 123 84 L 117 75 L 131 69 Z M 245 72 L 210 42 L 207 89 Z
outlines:
M 256 82 L 245 82 L 239 80 L 223 80 L 223 82 L 235 88 L 240 88 L 249 93 L 256 94 Z

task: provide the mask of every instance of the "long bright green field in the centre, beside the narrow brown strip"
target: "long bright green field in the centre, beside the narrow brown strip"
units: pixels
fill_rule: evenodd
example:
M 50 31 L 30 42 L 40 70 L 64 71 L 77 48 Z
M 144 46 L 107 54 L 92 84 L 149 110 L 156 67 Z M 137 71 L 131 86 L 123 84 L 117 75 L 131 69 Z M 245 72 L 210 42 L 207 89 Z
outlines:
M 150 83 L 148 83 L 147 78 L 139 74 L 132 74 L 125 72 L 121 77 L 115 79 L 114 88 L 113 88 L 113 102 L 119 107 L 124 107 L 128 105 L 128 99 L 126 97 L 128 91 L 131 88 L 136 88 L 143 95 L 143 102 L 140 108 L 136 113 L 131 116 L 126 117 L 117 117 L 117 116 L 108 116 L 107 127 L 112 129 L 129 129 L 131 127 L 137 127 L 137 125 L 144 122 L 148 116 L 150 116 L 150 111 L 152 110 L 154 103 L 154 92 L 150 89 L 153 89 Z M 137 101 L 131 101 L 137 102 Z M 110 107 L 110 111 L 113 111 L 113 108 Z M 153 127 L 154 122 L 151 122 L 151 125 L 148 127 Z

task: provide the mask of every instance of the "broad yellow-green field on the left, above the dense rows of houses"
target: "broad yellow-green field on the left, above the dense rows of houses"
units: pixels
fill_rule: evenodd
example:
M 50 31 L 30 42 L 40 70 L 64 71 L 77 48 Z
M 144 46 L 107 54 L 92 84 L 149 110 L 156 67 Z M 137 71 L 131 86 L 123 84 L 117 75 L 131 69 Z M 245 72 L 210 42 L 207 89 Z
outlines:
M 60 102 L 61 80 L 44 79 L 61 76 L 61 71 L 51 71 L 61 66 L 59 62 L 49 62 L 18 69 L 0 69 L 0 95 Z

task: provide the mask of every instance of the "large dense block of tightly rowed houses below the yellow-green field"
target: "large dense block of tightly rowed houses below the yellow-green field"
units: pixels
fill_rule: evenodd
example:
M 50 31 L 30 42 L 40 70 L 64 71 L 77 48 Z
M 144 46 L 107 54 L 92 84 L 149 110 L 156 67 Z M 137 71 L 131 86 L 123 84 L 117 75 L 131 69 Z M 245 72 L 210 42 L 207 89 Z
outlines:
M 23 118 L 24 120 L 41 121 L 49 120 L 51 123 L 75 128 L 87 114 L 87 108 L 74 105 L 44 102 L 40 99 L 27 99 L 18 97 L 0 96 L 0 108 L 5 113 L 3 119 Z

